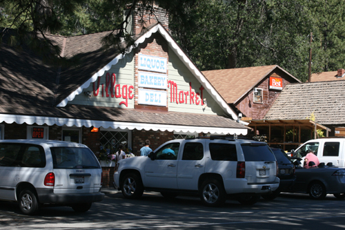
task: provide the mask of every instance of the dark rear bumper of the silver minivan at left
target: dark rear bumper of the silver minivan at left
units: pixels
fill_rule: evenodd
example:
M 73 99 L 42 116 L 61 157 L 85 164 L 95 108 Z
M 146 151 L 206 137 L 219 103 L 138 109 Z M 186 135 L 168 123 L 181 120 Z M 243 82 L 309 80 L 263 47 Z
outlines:
M 55 194 L 52 189 L 37 189 L 39 202 L 42 204 L 75 204 L 99 202 L 104 198 L 104 193 L 72 193 Z

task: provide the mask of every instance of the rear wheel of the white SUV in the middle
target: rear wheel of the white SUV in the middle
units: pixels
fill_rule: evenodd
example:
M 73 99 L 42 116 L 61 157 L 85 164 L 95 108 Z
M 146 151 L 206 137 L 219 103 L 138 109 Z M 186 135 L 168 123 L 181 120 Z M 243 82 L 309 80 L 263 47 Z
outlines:
M 205 180 L 201 184 L 201 201 L 208 207 L 219 207 L 226 202 L 224 185 L 215 179 Z

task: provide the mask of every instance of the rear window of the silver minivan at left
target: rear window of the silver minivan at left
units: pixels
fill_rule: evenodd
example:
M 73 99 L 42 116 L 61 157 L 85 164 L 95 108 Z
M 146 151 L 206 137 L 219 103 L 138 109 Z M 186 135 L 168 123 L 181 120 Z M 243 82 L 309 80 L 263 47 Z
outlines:
M 100 169 L 95 154 L 89 148 L 52 147 L 54 169 Z

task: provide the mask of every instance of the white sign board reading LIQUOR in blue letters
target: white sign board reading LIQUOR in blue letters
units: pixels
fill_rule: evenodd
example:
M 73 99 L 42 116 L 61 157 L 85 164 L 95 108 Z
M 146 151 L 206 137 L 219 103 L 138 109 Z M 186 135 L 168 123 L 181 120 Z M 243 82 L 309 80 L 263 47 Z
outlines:
M 154 57 L 139 54 L 139 70 L 148 70 L 152 72 L 166 73 L 166 57 Z

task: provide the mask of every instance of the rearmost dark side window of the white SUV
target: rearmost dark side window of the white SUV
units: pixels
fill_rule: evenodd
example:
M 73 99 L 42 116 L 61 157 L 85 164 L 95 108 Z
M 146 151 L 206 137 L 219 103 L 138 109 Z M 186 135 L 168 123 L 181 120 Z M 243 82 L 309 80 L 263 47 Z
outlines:
M 212 160 L 237 161 L 235 144 L 210 143 L 209 147 Z

